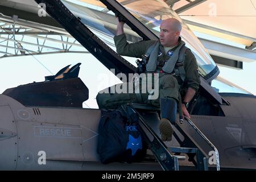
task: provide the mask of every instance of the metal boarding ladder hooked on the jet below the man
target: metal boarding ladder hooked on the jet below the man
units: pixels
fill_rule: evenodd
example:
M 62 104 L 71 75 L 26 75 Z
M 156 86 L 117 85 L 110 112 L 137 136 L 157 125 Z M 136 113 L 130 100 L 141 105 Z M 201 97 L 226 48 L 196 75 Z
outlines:
M 159 110 L 154 106 L 143 104 L 127 104 L 131 110 L 139 116 L 139 126 L 143 131 L 143 138 L 146 140 L 148 148 L 152 151 L 155 159 L 165 171 L 179 171 L 179 159 L 182 155 L 187 154 L 189 160 L 195 165 L 197 170 L 208 171 L 208 160 L 210 154 L 215 155 L 216 170 L 220 170 L 220 162 L 217 148 L 205 137 L 205 135 L 196 127 L 191 119 L 184 118 L 183 122 L 177 122 L 175 126 L 184 140 L 181 141 L 176 133 L 174 137 L 181 147 L 167 147 L 166 144 L 158 137 L 154 130 L 148 125 L 139 110 Z M 178 155 L 176 155 L 178 154 Z M 196 156 L 196 160 L 194 157 Z

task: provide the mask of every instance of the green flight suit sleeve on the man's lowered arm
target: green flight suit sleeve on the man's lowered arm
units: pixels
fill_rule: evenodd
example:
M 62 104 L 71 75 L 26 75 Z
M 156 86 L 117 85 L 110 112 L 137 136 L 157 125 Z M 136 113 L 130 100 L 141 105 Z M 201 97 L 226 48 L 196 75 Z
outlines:
M 193 55 L 193 53 L 189 49 L 185 51 L 184 69 L 186 72 L 185 86 L 187 88 L 190 87 L 197 92 L 200 86 L 198 65 L 197 65 L 196 57 Z

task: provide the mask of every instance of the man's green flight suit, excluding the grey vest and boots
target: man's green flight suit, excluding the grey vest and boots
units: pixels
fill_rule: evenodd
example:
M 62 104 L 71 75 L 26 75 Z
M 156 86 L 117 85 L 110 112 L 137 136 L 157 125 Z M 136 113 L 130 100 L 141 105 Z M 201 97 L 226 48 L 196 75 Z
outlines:
M 180 40 L 181 39 L 179 39 L 179 41 Z M 117 48 L 117 53 L 119 53 L 119 55 L 142 58 L 142 55 L 144 55 L 147 49 L 155 43 L 155 40 L 141 41 L 129 44 L 126 41 L 125 34 L 121 34 L 114 36 L 114 42 L 115 47 Z M 176 47 L 172 48 L 171 51 L 175 51 Z M 165 61 L 168 59 L 169 56 L 164 53 L 164 48 L 162 45 L 160 45 L 158 63 L 155 71 L 155 73 L 159 73 L 159 97 L 156 100 L 148 100 L 149 93 L 99 93 L 96 97 L 99 108 L 115 109 L 118 107 L 118 105 L 127 104 L 129 102 L 152 104 L 159 107 L 159 98 L 174 98 L 175 100 L 178 100 L 181 85 L 183 89 L 190 87 L 197 92 L 200 85 L 200 78 L 197 69 L 198 67 L 196 58 L 193 53 L 189 49 L 185 51 L 184 69 L 186 78 L 184 83 L 178 76 L 173 76 L 172 74 L 167 73 L 160 73 L 161 68 L 163 67 Z M 122 85 L 126 84 L 127 83 L 123 83 Z M 145 83 L 140 82 L 140 84 Z

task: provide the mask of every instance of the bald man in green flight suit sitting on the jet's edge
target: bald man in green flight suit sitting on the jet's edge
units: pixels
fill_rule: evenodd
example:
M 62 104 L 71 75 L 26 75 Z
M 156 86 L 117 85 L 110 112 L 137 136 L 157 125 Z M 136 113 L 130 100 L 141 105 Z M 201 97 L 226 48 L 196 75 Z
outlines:
M 159 130 L 163 141 L 172 139 L 179 93 L 182 96 L 182 111 L 190 118 L 188 102 L 195 96 L 200 85 L 197 61 L 193 53 L 185 47 L 180 38 L 181 23 L 169 18 L 160 24 L 159 40 L 147 40 L 127 43 L 122 22 L 117 17 L 117 32 L 114 36 L 117 53 L 123 56 L 139 57 L 146 61 L 146 73 L 159 73 L 159 97 L 148 100 L 143 94 L 98 94 L 99 108 L 114 109 L 115 106 L 128 102 L 139 102 L 160 106 Z M 177 63 L 177 59 L 181 62 Z M 183 90 L 183 92 L 181 91 Z M 182 94 L 183 93 L 183 94 Z

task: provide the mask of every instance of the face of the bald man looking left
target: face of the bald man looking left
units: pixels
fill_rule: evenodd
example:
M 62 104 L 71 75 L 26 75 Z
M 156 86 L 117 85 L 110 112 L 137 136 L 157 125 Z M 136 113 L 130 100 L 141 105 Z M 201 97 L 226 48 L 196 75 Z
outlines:
M 172 23 L 163 20 L 163 22 L 160 24 L 160 34 L 159 39 L 160 43 L 164 47 L 172 47 L 177 44 L 177 40 L 179 39 L 180 33 L 175 31 Z

